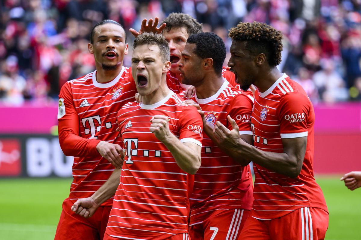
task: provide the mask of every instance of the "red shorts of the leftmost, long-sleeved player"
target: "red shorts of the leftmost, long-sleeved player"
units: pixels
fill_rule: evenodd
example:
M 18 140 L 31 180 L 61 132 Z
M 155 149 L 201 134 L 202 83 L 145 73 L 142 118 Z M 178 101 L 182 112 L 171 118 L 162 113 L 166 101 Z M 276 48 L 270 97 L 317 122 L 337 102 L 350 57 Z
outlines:
M 93 216 L 84 218 L 71 210 L 73 202 L 65 199 L 55 240 L 102 240 L 112 207 L 99 207 Z

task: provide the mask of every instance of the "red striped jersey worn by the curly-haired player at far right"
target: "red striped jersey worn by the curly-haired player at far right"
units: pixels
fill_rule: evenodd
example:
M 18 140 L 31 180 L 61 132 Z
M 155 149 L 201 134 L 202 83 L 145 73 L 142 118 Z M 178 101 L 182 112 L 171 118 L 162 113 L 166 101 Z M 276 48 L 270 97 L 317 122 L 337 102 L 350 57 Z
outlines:
M 313 176 L 314 110 L 303 88 L 285 73 L 267 91 L 256 91 L 251 125 L 253 144 L 263 151 L 283 152 L 282 139 L 307 136 L 301 173 L 290 178 L 254 164 L 252 216 L 274 219 L 302 207 L 327 211 Z

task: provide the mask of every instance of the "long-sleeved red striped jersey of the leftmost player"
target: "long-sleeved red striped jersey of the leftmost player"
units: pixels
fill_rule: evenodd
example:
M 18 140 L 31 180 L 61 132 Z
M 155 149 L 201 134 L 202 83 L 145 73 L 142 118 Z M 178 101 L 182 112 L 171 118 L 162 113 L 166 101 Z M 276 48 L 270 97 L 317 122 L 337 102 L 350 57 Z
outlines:
M 59 94 L 59 141 L 66 155 L 74 156 L 69 198 L 90 197 L 112 174 L 114 167 L 96 150 L 104 140 L 117 137 L 117 112 L 135 100 L 130 69 L 123 67 L 114 80 L 96 81 L 96 71 L 66 82 Z M 102 205 L 111 206 L 113 199 Z

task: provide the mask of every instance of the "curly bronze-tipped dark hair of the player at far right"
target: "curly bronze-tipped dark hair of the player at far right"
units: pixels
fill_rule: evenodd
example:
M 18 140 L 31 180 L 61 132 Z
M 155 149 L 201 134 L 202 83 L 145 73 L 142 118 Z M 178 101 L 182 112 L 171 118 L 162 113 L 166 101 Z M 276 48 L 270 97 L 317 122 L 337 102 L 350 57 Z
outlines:
M 264 53 L 270 66 L 281 62 L 282 33 L 260 22 L 242 23 L 229 30 L 232 41 L 245 41 L 245 47 L 252 54 Z

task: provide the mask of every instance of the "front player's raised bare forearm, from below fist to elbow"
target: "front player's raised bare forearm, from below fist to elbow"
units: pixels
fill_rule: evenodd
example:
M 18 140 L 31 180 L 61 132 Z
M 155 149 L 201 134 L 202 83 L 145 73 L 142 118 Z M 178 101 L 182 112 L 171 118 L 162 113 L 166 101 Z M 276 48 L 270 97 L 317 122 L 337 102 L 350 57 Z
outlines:
M 163 143 L 173 155 L 175 162 L 184 172 L 195 174 L 198 171 L 201 166 L 200 151 L 197 152 L 189 148 L 173 134 Z

